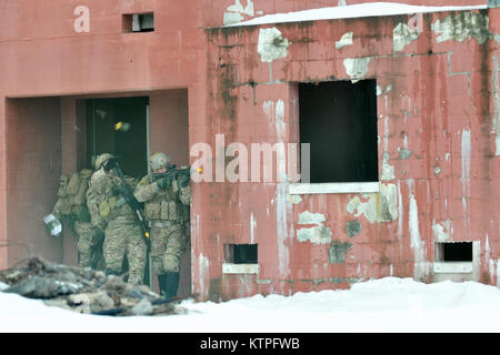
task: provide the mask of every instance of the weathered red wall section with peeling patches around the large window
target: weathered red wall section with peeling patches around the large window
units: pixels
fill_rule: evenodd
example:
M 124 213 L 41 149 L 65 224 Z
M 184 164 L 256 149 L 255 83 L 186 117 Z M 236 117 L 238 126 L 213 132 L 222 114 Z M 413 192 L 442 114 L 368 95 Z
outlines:
M 432 281 L 443 233 L 479 241 L 474 280 L 497 284 L 497 17 L 486 10 L 208 30 L 213 103 L 200 136 L 224 134 L 226 146 L 297 143 L 296 82 L 377 79 L 380 191 L 297 199 L 287 183 L 202 185 L 201 205 L 210 207 L 196 212 L 194 292 L 226 300 L 389 275 Z M 224 243 L 257 243 L 259 274 L 222 274 Z

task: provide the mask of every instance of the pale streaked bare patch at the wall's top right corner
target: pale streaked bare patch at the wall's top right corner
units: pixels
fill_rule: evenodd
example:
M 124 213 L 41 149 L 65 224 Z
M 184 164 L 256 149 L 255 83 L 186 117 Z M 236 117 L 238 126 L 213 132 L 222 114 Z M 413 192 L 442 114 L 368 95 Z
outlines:
M 466 39 L 476 38 L 479 44 L 483 44 L 489 38 L 492 38 L 488 22 L 488 16 L 461 11 L 437 20 L 432 23 L 432 31 L 437 36 L 438 43 L 450 40 L 463 42 Z

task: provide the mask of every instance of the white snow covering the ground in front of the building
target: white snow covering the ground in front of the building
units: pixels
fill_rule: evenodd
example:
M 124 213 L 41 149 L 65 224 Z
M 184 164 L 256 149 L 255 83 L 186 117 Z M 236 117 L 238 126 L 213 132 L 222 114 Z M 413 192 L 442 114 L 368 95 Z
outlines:
M 0 293 L 0 332 L 500 332 L 500 290 L 476 282 L 423 284 L 384 277 L 353 284 L 350 290 L 256 295 L 223 303 L 188 300 L 181 305 L 187 314 L 111 317 Z

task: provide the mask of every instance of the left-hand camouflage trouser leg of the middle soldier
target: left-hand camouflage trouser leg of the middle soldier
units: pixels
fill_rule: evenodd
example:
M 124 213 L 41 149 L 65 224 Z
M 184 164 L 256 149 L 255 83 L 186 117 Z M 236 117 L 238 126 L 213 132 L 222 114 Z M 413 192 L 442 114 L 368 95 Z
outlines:
M 108 224 L 106 229 L 104 236 L 104 261 L 106 261 L 106 273 L 120 275 L 121 265 L 123 263 L 123 256 L 127 247 L 127 229 L 123 225 L 117 225 L 112 221 Z

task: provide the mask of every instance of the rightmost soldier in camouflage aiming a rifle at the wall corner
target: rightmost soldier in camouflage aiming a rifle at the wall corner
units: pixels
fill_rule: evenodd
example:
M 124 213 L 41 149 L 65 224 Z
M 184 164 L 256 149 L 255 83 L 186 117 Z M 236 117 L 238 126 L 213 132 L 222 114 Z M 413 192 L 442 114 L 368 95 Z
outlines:
M 134 196 L 144 203 L 144 216 L 151 227 L 152 273 L 158 275 L 160 293 L 177 295 L 180 257 L 188 241 L 184 223 L 191 203 L 189 176 L 166 176 L 170 158 L 156 153 L 149 159 L 149 173 L 139 182 Z

